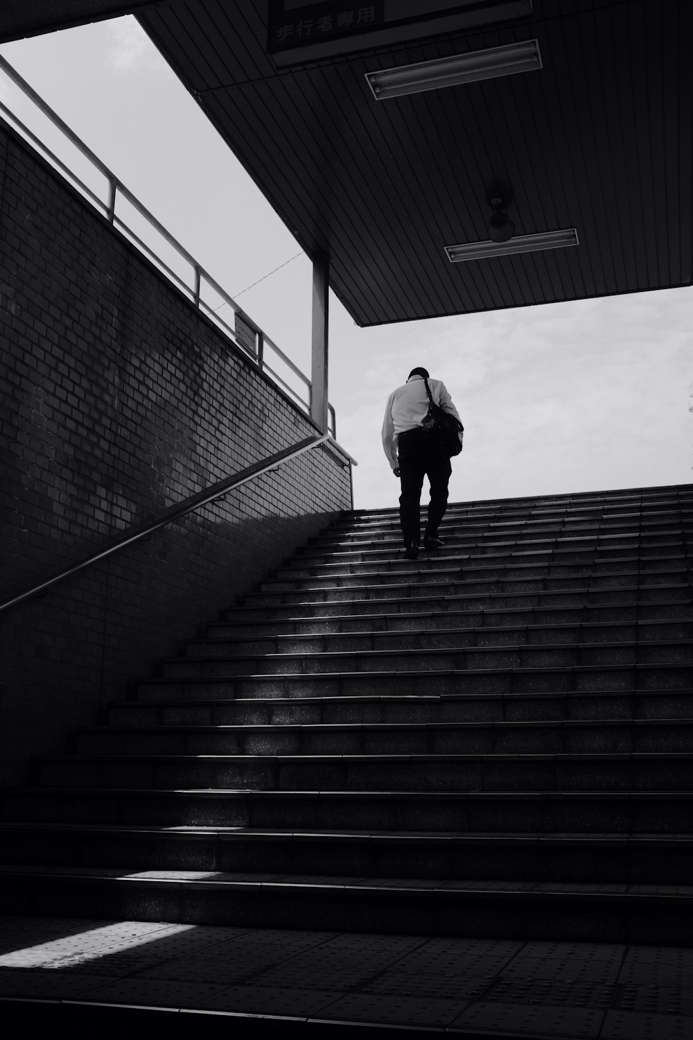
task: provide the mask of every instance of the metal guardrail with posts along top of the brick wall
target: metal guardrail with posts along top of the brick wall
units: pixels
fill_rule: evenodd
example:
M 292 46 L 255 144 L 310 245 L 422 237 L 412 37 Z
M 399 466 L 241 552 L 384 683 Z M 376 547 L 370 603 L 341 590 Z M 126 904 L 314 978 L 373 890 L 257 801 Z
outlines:
M 289 395 L 291 400 L 297 405 L 301 411 L 305 412 L 310 416 L 311 412 L 311 396 L 312 396 L 312 384 L 311 380 L 301 372 L 301 370 L 291 361 L 290 358 L 284 354 L 283 350 L 276 345 L 276 343 L 270 339 L 270 337 L 263 332 L 257 322 L 252 320 L 249 315 L 245 313 L 242 307 L 236 303 L 236 301 L 223 289 L 219 283 L 212 278 L 209 271 L 205 270 L 202 264 L 176 239 L 169 231 L 164 228 L 164 226 L 157 220 L 153 213 L 150 212 L 146 207 L 139 202 L 138 199 L 130 191 L 125 184 L 115 176 L 115 174 L 108 168 L 101 161 L 101 159 L 95 155 L 91 149 L 84 144 L 84 141 L 77 136 L 77 134 L 72 130 L 63 120 L 55 112 L 41 97 L 36 94 L 32 86 L 30 86 L 25 79 L 17 72 L 8 61 L 5 60 L 0 55 L 0 70 L 7 76 L 7 78 L 22 92 L 32 102 L 33 105 L 50 121 L 50 123 L 56 127 L 62 137 L 70 141 L 79 153 L 84 156 L 94 170 L 98 171 L 105 180 L 106 184 L 103 186 L 104 191 L 100 194 L 99 191 L 94 190 L 89 187 L 84 180 L 73 170 L 66 162 L 63 162 L 47 145 L 44 144 L 39 137 L 33 133 L 20 119 L 8 108 L 2 101 L 0 101 L 0 111 L 7 118 L 10 124 L 29 140 L 33 146 L 35 146 L 38 151 L 62 174 L 64 174 L 73 185 L 91 202 L 109 220 L 114 228 L 121 231 L 125 237 L 141 250 L 149 258 L 154 262 L 154 264 L 168 278 L 170 281 L 178 286 L 198 308 L 204 314 L 207 315 L 214 323 L 221 330 L 221 332 L 232 341 L 232 343 L 244 355 L 249 357 L 252 362 L 258 366 L 261 372 L 268 375 L 270 380 L 276 384 L 286 394 Z M 102 198 L 102 194 L 105 198 Z M 167 246 L 172 251 L 177 259 L 183 260 L 185 265 L 185 270 L 187 277 L 182 277 L 179 272 L 174 270 L 171 263 L 174 262 L 170 258 L 168 260 L 163 259 L 161 253 L 164 252 L 160 248 L 153 248 L 149 245 L 141 237 L 141 232 L 138 233 L 133 228 L 131 228 L 123 217 L 116 213 L 116 204 L 118 202 L 125 202 L 134 211 L 134 214 L 140 216 L 144 220 L 144 225 L 154 229 L 157 235 L 162 239 Z M 210 290 L 214 293 L 213 300 L 204 298 L 205 290 L 209 293 Z M 219 304 L 218 302 L 221 301 Z M 235 314 L 235 323 L 232 327 L 228 321 L 219 315 L 218 310 L 223 305 L 228 305 Z M 216 306 L 215 306 L 216 305 Z M 272 367 L 267 363 L 267 354 L 272 356 Z M 282 375 L 276 371 L 276 367 L 282 366 L 285 369 L 285 374 Z M 291 382 L 289 382 L 291 381 Z M 293 385 L 292 385 L 293 383 Z M 332 437 L 337 437 L 337 417 L 335 414 L 335 409 L 331 405 L 327 406 L 329 412 L 328 430 Z

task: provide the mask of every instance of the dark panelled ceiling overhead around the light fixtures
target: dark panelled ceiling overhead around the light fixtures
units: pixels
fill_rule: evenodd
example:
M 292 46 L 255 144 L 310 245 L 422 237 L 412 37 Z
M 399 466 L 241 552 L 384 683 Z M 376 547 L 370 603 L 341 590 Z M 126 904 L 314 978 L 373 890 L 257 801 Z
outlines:
M 302 63 L 268 52 L 267 0 L 137 17 L 361 326 L 690 285 L 693 3 L 524 6 Z M 366 80 L 529 40 L 541 68 L 523 74 L 383 101 Z M 499 193 L 516 236 L 579 244 L 451 263 L 446 246 L 488 238 Z

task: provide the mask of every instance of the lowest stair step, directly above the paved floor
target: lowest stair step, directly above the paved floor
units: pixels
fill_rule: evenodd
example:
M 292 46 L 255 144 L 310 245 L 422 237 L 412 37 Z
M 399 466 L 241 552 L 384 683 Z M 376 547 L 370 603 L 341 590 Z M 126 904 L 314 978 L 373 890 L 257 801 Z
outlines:
M 201 874 L 204 876 L 201 877 Z M 5 867 L 0 912 L 381 934 L 690 945 L 685 886 Z

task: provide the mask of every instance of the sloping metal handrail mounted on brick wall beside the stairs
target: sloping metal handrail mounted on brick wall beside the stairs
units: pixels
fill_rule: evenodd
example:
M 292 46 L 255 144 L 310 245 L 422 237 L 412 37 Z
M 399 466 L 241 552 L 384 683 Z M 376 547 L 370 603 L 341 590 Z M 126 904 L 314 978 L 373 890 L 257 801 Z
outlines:
M 99 561 L 105 560 L 106 556 L 110 556 L 114 552 L 119 552 L 121 549 L 125 549 L 128 545 L 132 545 L 134 542 L 138 542 L 142 538 L 146 538 L 155 530 L 159 530 L 161 527 L 165 527 L 167 524 L 174 523 L 176 520 L 180 520 L 181 517 L 186 516 L 188 513 L 192 513 L 194 510 L 198 510 L 203 505 L 207 505 L 209 502 L 212 502 L 217 498 L 222 498 L 229 491 L 234 491 L 236 488 L 240 488 L 241 485 L 247 484 L 248 480 L 252 480 L 256 476 L 260 476 L 262 473 L 267 473 L 272 469 L 278 469 L 283 463 L 288 462 L 290 459 L 296 459 L 304 451 L 309 451 L 311 448 L 316 448 L 319 444 L 323 444 L 327 440 L 331 440 L 329 434 L 323 434 L 322 437 L 318 438 L 306 437 L 304 440 L 291 445 L 291 447 L 284 448 L 282 451 L 277 451 L 276 454 L 269 456 L 269 458 L 264 459 L 262 462 L 256 462 L 251 466 L 246 467 L 246 469 L 242 469 L 240 473 L 234 473 L 233 476 L 225 476 L 222 480 L 218 480 L 209 488 L 205 488 L 204 491 L 198 491 L 196 494 L 186 498 L 183 502 L 179 502 L 178 505 L 171 505 L 170 509 L 166 510 L 166 512 L 163 513 L 158 520 L 152 520 L 148 523 L 131 527 L 129 531 L 126 531 L 121 536 L 121 538 L 112 542 L 108 548 L 102 549 L 100 552 L 95 552 L 92 555 L 87 556 L 86 560 L 83 560 L 80 564 L 73 564 L 71 567 L 65 567 L 64 570 L 54 574 L 53 577 L 48 578 L 46 581 L 42 581 L 39 584 L 33 586 L 31 589 L 21 593 L 19 596 L 12 596 L 11 599 L 5 600 L 4 603 L 0 603 L 0 613 L 8 609 L 10 606 L 17 606 L 18 603 L 22 603 L 24 600 L 30 599 L 32 596 L 36 596 L 38 593 L 50 589 L 51 586 L 57 584 L 58 581 L 63 581 L 65 578 L 72 577 L 73 574 L 78 574 L 87 567 L 91 567 L 92 564 L 97 564 Z M 351 459 L 351 457 L 348 456 L 336 441 L 331 441 L 331 443 L 335 447 L 339 448 L 339 450 L 342 451 L 350 462 L 354 462 L 354 460 Z

